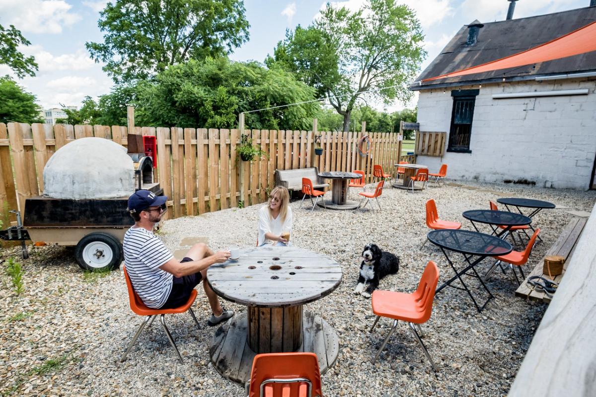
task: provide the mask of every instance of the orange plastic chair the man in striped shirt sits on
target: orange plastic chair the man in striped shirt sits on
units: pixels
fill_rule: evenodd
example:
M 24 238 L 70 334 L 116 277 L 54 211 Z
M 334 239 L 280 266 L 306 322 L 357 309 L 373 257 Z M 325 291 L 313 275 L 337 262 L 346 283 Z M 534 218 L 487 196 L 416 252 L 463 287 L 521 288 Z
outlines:
M 141 297 L 135 292 L 135 290 L 132 287 L 131 278 L 128 276 L 128 273 L 126 273 L 126 267 L 124 267 L 123 269 L 124 269 L 124 277 L 126 279 L 126 287 L 128 288 L 128 298 L 131 303 L 131 310 L 133 312 L 135 312 L 135 314 L 147 316 L 147 320 L 143 321 L 143 323 L 141 324 L 139 329 L 136 331 L 135 337 L 132 338 L 131 344 L 128 345 L 128 348 L 126 349 L 126 352 L 122 356 L 122 360 L 120 360 L 120 361 L 122 362 L 122 361 L 126 360 L 126 356 L 131 351 L 132 346 L 134 346 L 134 344 L 136 342 L 136 339 L 139 337 L 139 335 L 141 335 L 142 330 L 145 328 L 145 325 L 149 322 L 149 320 L 151 320 L 151 323 L 149 323 L 149 326 L 151 326 L 151 324 L 153 324 L 153 320 L 155 320 L 155 316 L 160 315 L 159 321 L 160 321 L 160 323 L 162 323 L 162 328 L 166 332 L 167 339 L 169 339 L 170 345 L 172 345 L 172 347 L 176 351 L 176 354 L 178 354 L 178 358 L 180 359 L 180 362 L 183 362 L 182 356 L 180 355 L 180 352 L 178 351 L 178 347 L 176 347 L 176 343 L 174 342 L 174 340 L 172 338 L 172 334 L 170 334 L 170 331 L 166 327 L 166 322 L 164 321 L 163 317 L 166 314 L 184 313 L 185 311 L 188 311 L 190 313 L 191 317 L 193 317 L 194 322 L 197 323 L 197 327 L 200 328 L 201 326 L 198 325 L 197 317 L 195 317 L 193 309 L 191 309 L 191 305 L 194 304 L 194 300 L 197 298 L 197 290 L 193 289 L 193 292 L 191 292 L 190 298 L 188 298 L 188 301 L 180 307 L 176 307 L 176 308 L 172 308 L 172 309 L 151 309 L 151 308 L 148 308 L 147 306 L 145 306 L 143 301 L 141 301 Z

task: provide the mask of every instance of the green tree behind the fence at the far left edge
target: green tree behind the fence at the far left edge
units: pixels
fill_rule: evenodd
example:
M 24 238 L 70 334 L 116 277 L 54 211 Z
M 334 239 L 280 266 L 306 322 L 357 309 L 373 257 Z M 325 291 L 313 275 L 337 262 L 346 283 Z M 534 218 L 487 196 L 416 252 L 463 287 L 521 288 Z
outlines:
M 44 123 L 35 95 L 9 76 L 0 77 L 0 123 Z

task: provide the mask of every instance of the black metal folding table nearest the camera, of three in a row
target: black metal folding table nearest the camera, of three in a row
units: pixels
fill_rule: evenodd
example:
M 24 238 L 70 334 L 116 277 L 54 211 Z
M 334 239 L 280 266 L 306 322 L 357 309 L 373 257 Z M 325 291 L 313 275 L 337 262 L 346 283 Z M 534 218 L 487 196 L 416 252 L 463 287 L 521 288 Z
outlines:
M 482 262 L 486 257 L 496 257 L 498 255 L 507 255 L 513 250 L 513 246 L 510 243 L 506 242 L 505 240 L 499 239 L 499 237 L 486 235 L 485 233 L 480 232 L 473 232 L 471 230 L 451 230 L 451 229 L 442 229 L 442 230 L 432 230 L 429 232 L 428 238 L 430 242 L 434 245 L 439 246 L 441 251 L 443 251 L 443 255 L 447 258 L 449 265 L 455 272 L 455 276 L 451 277 L 447 282 L 443 283 L 440 287 L 438 287 L 435 293 L 438 293 L 440 290 L 445 288 L 446 286 L 453 287 L 455 289 L 465 290 L 465 292 L 470 295 L 472 302 L 474 302 L 474 306 L 476 306 L 476 310 L 481 312 L 488 302 L 495 298 L 491 290 L 488 289 L 485 282 L 482 280 L 482 277 L 479 276 L 478 272 L 476 271 L 475 266 Z M 464 255 L 465 262 L 467 262 L 467 266 L 464 267 L 462 270 L 458 271 L 455 268 L 451 259 L 445 252 L 445 250 L 460 252 L 460 254 Z M 472 258 L 477 257 L 476 260 L 472 261 Z M 473 271 L 473 274 L 468 273 L 468 271 Z M 471 276 L 476 277 L 480 285 L 486 290 L 489 297 L 486 299 L 486 302 L 479 306 L 474 299 L 470 289 L 468 286 L 465 285 L 464 280 L 461 276 Z M 464 286 L 458 287 L 451 285 L 456 279 L 459 279 L 461 284 Z

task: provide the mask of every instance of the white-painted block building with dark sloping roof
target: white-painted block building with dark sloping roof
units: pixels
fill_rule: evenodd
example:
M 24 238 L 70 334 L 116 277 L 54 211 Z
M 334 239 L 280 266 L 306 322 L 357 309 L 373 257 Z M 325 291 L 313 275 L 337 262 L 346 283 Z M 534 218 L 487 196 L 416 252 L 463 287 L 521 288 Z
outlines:
M 596 187 L 596 51 L 427 80 L 513 58 L 594 21 L 596 7 L 586 7 L 462 27 L 411 86 L 420 90 L 420 131 L 447 133 L 442 157 L 417 162 L 431 172 L 448 164 L 454 179 Z

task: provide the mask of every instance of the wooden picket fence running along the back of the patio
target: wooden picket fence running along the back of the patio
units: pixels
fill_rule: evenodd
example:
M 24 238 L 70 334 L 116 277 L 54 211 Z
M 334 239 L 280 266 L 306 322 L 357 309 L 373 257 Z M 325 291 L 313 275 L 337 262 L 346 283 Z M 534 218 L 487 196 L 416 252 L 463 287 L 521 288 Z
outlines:
M 154 179 L 169 198 L 167 217 L 265 202 L 274 187 L 276 168 L 314 165 L 319 171 L 364 170 L 367 182 L 372 182 L 373 164 L 381 164 L 386 172 L 393 173 L 399 160 L 413 162 L 413 157 L 400 157 L 401 140 L 397 134 L 368 133 L 369 155 L 362 156 L 358 153 L 362 132 L 316 132 L 315 129 L 315 133 L 290 130 L 244 133 L 252 138 L 253 145 L 269 154 L 268 158 L 237 160 L 236 148 L 241 138 L 237 129 L 135 127 L 135 134 L 156 136 Z M 126 146 L 127 134 L 127 128 L 121 126 L 0 123 L 0 205 L 22 212 L 25 199 L 42 195 L 46 162 L 72 140 L 95 136 Z M 322 155 L 314 154 L 315 143 L 324 149 Z

